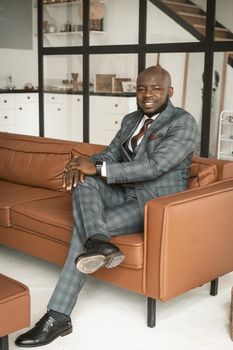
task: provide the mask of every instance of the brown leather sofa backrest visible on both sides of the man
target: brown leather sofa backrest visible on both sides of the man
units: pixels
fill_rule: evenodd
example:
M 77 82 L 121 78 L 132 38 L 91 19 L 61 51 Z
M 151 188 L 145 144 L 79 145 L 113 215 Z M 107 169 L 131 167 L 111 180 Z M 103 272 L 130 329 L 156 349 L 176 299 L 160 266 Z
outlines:
M 73 155 L 91 156 L 106 146 L 0 132 L 0 179 L 61 191 Z M 189 188 L 233 177 L 233 162 L 195 156 Z

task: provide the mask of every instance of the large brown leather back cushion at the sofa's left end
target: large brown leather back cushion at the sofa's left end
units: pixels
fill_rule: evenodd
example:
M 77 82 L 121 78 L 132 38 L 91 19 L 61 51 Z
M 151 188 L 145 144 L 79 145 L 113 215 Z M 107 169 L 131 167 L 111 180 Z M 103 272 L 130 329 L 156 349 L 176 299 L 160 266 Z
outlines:
M 0 178 L 54 190 L 62 189 L 62 175 L 70 159 L 68 149 L 46 143 L 0 139 Z

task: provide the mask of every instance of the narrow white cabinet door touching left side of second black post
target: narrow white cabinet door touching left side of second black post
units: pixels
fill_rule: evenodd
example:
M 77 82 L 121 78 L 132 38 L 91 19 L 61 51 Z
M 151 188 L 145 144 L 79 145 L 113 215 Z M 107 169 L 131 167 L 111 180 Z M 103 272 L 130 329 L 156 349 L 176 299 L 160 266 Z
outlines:
M 67 95 L 68 138 L 83 141 L 83 96 Z

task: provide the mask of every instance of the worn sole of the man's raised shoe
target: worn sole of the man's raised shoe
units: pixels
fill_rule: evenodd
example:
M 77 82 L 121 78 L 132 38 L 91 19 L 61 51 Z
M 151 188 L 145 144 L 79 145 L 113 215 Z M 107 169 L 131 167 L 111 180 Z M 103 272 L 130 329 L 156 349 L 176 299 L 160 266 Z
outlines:
M 121 252 L 104 255 L 93 255 L 82 257 L 77 261 L 77 269 L 85 274 L 94 273 L 103 266 L 106 266 L 108 269 L 118 266 L 122 263 L 125 256 Z

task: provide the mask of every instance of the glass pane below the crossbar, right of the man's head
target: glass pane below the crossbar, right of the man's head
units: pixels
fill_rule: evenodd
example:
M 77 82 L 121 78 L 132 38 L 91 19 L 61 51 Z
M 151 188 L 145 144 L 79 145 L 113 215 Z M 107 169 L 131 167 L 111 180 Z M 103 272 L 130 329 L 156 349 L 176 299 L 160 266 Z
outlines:
M 160 64 L 171 74 L 174 95 L 171 102 L 191 113 L 199 127 L 199 143 L 196 153 L 200 153 L 202 116 L 202 74 L 203 53 L 161 53 L 146 56 L 147 67 Z

